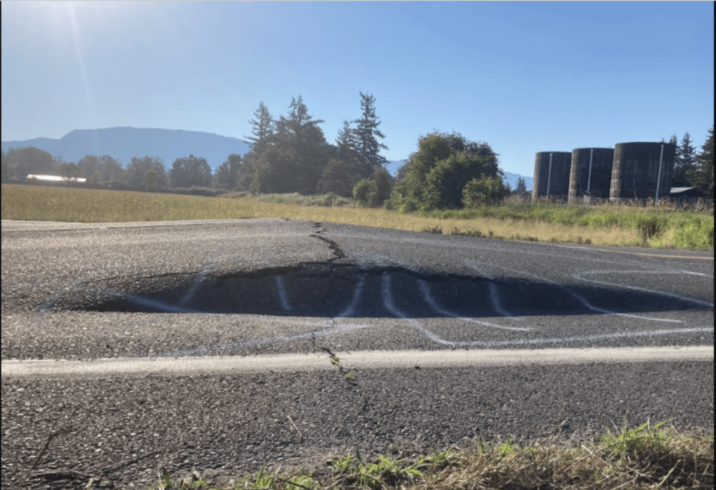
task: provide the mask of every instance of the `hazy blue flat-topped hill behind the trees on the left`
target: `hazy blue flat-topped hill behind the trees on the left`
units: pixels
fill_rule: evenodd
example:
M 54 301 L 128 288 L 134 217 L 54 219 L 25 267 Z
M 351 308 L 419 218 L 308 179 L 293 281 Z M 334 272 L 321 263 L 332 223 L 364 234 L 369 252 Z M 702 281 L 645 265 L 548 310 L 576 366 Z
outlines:
M 167 169 L 180 157 L 202 157 L 213 169 L 228 155 L 244 155 L 250 145 L 238 138 L 218 134 L 184 131 L 183 129 L 139 129 L 110 127 L 106 129 L 75 129 L 60 139 L 35 138 L 26 141 L 4 141 L 2 150 L 36 147 L 66 162 L 78 162 L 85 155 L 110 155 L 127 166 L 132 157 L 161 157 Z

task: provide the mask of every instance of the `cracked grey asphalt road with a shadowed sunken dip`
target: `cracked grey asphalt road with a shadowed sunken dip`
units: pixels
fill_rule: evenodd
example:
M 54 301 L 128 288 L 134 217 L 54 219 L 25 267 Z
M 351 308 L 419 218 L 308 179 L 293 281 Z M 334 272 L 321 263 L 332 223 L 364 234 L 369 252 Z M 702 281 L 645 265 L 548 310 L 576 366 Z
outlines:
M 26 485 L 321 466 L 475 437 L 589 441 L 624 417 L 713 430 L 713 253 L 279 219 L 3 221 L 1 304 L 3 486 L 53 427 Z M 554 349 L 571 361 L 458 362 Z M 351 363 L 362 352 L 382 362 Z M 406 352 L 424 361 L 388 362 Z M 325 364 L 279 368 L 277 354 Z M 81 368 L 205 356 L 220 367 Z M 258 367 L 221 368 L 232 356 Z M 16 369 L 58 359 L 80 368 Z

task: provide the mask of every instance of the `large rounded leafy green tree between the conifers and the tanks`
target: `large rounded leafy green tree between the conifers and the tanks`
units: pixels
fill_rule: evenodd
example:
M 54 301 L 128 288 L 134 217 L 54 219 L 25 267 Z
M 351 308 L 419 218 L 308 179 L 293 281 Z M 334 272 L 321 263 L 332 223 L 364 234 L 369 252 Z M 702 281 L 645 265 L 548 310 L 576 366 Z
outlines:
M 485 142 L 472 142 L 461 134 L 433 132 L 418 140 L 417 152 L 410 155 L 405 178 L 397 181 L 388 206 L 404 212 L 459 208 L 463 189 L 483 175 L 504 174 L 498 155 Z

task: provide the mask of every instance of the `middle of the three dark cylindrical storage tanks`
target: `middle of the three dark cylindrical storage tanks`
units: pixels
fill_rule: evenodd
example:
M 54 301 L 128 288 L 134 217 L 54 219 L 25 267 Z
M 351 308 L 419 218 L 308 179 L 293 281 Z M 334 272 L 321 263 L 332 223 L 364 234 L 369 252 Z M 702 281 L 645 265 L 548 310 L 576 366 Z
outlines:
M 582 197 L 609 197 L 613 148 L 575 148 L 569 172 L 569 202 Z

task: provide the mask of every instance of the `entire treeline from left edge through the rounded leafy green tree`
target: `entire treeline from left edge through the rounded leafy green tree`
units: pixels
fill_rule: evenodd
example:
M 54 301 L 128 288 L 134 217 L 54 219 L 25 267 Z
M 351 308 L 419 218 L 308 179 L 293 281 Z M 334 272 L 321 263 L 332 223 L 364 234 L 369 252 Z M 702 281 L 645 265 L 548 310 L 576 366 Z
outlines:
M 206 160 L 189 155 L 174 160 L 169 170 L 158 157 L 134 157 L 127 167 L 105 155 L 87 155 L 64 162 L 34 147 L 2 153 L 3 180 L 27 175 L 59 175 L 86 185 L 121 190 L 188 190 L 209 194 L 219 190 L 254 193 L 333 193 L 354 197 L 363 205 L 400 210 L 430 210 L 493 202 L 509 192 L 489 144 L 470 142 L 460 134 L 433 132 L 418 140 L 418 149 L 394 179 L 385 169 L 375 98 L 360 92 L 361 117 L 344 120 L 334 144 L 326 141 L 303 99 L 291 99 L 289 113 L 274 119 L 259 103 L 251 119 L 251 150 L 228 155 L 211 172 Z

